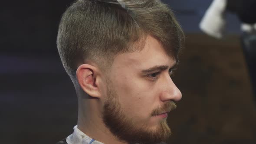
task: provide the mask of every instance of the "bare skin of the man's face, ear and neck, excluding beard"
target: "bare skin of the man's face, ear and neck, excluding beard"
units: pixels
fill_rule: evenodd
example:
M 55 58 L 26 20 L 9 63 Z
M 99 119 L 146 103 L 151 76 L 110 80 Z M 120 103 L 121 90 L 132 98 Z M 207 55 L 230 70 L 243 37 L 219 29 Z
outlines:
M 132 120 L 137 128 L 144 125 L 151 131 L 157 131 L 160 123 L 166 119 L 159 115 L 152 116 L 152 111 L 170 101 L 181 100 L 181 92 L 170 77 L 175 64 L 176 61 L 166 54 L 161 43 L 152 36 L 146 38 L 144 49 L 140 52 L 116 56 L 107 74 L 94 62 L 85 61 L 77 69 L 78 82 L 82 88 L 77 91 L 79 130 L 105 144 L 127 144 L 118 140 L 102 120 L 104 104 L 108 100 L 108 79 L 115 88 L 126 118 Z M 156 66 L 166 69 L 145 72 Z

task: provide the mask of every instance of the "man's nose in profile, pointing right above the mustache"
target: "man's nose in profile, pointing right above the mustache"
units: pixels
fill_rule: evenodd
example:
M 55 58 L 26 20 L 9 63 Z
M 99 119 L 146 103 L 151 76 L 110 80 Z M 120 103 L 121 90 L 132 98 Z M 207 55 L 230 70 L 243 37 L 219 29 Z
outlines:
M 181 91 L 174 84 L 171 77 L 168 75 L 168 78 L 164 81 L 165 84 L 161 93 L 161 101 L 180 101 L 182 97 Z

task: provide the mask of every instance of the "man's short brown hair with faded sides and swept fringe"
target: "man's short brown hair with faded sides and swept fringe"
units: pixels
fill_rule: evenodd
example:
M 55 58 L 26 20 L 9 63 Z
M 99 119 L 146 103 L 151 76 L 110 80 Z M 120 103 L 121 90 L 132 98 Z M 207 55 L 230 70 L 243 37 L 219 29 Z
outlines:
M 86 59 L 107 68 L 117 54 L 142 50 L 139 43 L 148 35 L 178 60 L 184 33 L 160 0 L 77 0 L 62 15 L 57 48 L 74 82 Z

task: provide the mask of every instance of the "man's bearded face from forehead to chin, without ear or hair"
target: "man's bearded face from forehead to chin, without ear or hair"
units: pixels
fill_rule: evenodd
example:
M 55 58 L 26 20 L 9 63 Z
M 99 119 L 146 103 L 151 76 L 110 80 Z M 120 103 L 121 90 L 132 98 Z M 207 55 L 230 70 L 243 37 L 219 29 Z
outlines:
M 167 112 L 176 108 L 174 101 L 181 99 L 170 78 L 175 64 L 151 36 L 141 52 L 115 58 L 107 82 L 103 120 L 119 139 L 149 143 L 170 136 Z

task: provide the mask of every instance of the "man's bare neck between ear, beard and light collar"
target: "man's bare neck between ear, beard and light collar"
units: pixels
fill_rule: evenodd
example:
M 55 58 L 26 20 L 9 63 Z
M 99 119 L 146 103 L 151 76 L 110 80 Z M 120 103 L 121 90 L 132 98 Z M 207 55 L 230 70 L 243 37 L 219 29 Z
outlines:
M 77 128 L 84 134 L 104 144 L 127 144 L 118 139 L 105 126 L 101 109 L 97 107 L 96 99 L 86 99 L 83 105 L 79 105 Z M 84 102 L 85 102 L 84 101 Z

